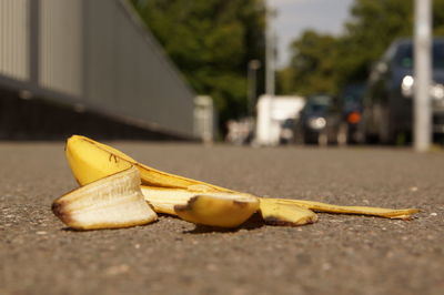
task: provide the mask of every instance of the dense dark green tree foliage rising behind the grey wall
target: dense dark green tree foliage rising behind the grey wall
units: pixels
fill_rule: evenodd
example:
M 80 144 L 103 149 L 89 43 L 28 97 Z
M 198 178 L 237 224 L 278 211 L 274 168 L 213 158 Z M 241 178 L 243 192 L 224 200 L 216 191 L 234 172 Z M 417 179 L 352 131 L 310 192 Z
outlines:
M 132 0 L 199 94 L 210 94 L 221 121 L 246 108 L 246 65 L 263 60 L 263 0 Z

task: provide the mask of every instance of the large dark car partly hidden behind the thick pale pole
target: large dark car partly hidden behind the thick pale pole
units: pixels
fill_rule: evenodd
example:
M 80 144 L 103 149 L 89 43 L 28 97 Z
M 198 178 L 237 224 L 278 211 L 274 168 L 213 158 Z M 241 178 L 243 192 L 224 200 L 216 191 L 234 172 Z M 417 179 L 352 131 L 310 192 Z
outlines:
M 444 133 L 444 39 L 432 44 L 433 132 Z M 362 131 L 367 140 L 401 143 L 412 135 L 413 125 L 413 43 L 395 41 L 376 63 L 364 99 Z

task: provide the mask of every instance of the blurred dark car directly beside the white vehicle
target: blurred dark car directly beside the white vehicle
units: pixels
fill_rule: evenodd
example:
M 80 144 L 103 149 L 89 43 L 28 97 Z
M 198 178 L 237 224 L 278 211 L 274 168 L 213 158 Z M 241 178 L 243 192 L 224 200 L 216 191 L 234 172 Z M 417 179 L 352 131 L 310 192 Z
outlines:
M 296 123 L 296 141 L 326 145 L 337 143 L 341 112 L 337 101 L 326 94 L 307 99 Z

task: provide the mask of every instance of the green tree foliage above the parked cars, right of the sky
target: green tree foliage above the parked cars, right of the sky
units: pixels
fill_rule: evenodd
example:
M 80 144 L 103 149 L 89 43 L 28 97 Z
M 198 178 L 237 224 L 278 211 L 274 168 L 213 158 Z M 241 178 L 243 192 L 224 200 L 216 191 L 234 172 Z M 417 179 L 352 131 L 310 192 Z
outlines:
M 340 37 L 306 31 L 292 43 L 292 61 L 280 72 L 284 93 L 337 92 L 364 81 L 396 38 L 413 33 L 413 0 L 355 0 Z M 433 29 L 444 35 L 444 0 L 433 0 Z

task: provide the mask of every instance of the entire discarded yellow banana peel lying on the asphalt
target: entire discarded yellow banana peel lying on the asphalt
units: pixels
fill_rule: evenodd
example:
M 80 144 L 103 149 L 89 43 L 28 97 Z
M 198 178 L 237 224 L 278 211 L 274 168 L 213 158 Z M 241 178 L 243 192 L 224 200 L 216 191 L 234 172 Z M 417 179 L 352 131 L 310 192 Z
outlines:
M 152 169 L 138 163 L 121 151 L 80 135 L 73 135 L 68 140 L 65 155 L 75 180 L 84 186 L 68 194 L 74 196 L 67 197 L 65 195 L 56 201 L 53 211 L 67 224 L 71 222 L 68 225 L 74 228 L 120 227 L 134 225 L 134 221 L 149 222 L 155 218 L 152 214 L 148 214 L 147 207 L 149 208 L 149 206 L 147 205 L 143 208 L 145 213 L 134 213 L 138 217 L 134 217 L 133 223 L 129 222 L 128 217 L 122 217 L 121 225 L 117 225 L 118 223 L 110 225 L 109 221 L 102 221 L 95 222 L 94 225 L 84 226 L 85 221 L 87 223 L 93 221 L 95 214 L 104 216 L 107 215 L 104 212 L 108 211 L 104 207 L 100 208 L 100 205 L 88 208 L 91 203 L 100 200 L 100 197 L 83 195 L 88 195 L 89 192 L 97 193 L 100 190 L 112 191 L 112 189 L 104 189 L 104 183 L 112 187 L 111 182 L 117 182 L 123 171 L 139 171 L 140 179 L 138 180 L 141 182 L 139 193 L 141 192 L 147 203 L 155 212 L 176 215 L 185 221 L 210 226 L 236 227 L 255 212 L 260 212 L 266 224 L 292 226 L 316 222 L 317 215 L 313 211 L 375 215 L 389 218 L 408 218 L 412 214 L 418 212 L 415 208 L 337 206 L 303 200 L 258 197 Z M 117 191 L 120 190 L 115 189 Z M 77 204 L 75 200 L 80 199 L 78 195 L 84 197 L 84 201 L 77 201 L 80 202 Z M 103 193 L 103 195 L 110 196 L 113 193 Z M 73 201 L 64 202 L 63 199 Z M 130 197 L 124 200 L 130 200 Z M 138 199 L 139 201 L 140 199 Z M 124 204 L 123 201 L 122 204 Z M 122 215 L 130 213 L 135 202 L 131 206 L 129 203 L 127 205 L 122 205 Z M 110 203 L 108 206 L 110 216 L 118 218 L 118 206 L 119 202 L 117 201 Z M 94 213 L 95 207 L 99 208 L 98 213 Z M 70 217 L 62 218 L 64 212 L 71 212 Z M 142 215 L 144 215 L 144 218 L 142 218 Z M 72 216 L 78 216 L 75 222 L 72 222 Z M 99 220 L 99 217 L 97 218 Z

